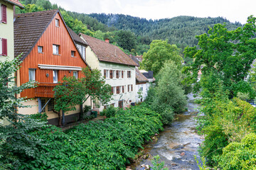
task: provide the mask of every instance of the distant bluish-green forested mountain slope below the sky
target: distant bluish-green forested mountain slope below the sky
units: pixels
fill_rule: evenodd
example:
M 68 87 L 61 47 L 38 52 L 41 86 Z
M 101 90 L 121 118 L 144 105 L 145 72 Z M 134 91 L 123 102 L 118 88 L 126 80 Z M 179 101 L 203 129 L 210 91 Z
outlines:
M 177 16 L 160 20 L 146 20 L 123 14 L 91 13 L 89 16 L 96 18 L 97 21 L 105 23 L 117 29 L 131 30 L 136 35 L 153 40 L 169 40 L 169 43 L 176 44 L 178 47 L 194 46 L 197 43 L 196 35 L 201 35 L 208 31 L 209 26 L 213 27 L 216 23 L 226 23 L 229 30 L 234 30 L 240 23 L 230 23 L 225 18 L 197 18 L 193 16 Z

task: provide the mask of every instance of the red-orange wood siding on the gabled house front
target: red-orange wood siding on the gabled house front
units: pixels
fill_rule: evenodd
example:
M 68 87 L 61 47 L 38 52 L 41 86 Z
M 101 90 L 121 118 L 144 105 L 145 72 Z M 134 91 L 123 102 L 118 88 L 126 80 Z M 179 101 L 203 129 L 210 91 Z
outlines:
M 60 27 L 55 26 L 55 18 L 60 20 Z M 65 28 L 65 25 L 60 18 L 59 13 L 53 18 L 46 31 L 43 33 L 41 38 L 38 40 L 36 45 L 31 50 L 30 54 L 21 63 L 20 79 L 21 84 L 28 81 L 28 69 L 36 69 L 36 81 L 39 83 L 50 83 L 48 86 L 55 86 L 53 83 L 53 69 L 40 69 L 38 64 L 49 64 L 49 65 L 63 65 L 63 66 L 74 66 L 74 67 L 87 67 L 85 62 L 79 56 L 79 52 L 73 43 L 72 38 Z M 53 44 L 60 45 L 59 54 L 53 55 Z M 43 53 L 38 53 L 38 46 L 43 46 Z M 75 51 L 76 57 L 71 57 L 71 50 Z M 46 77 L 46 74 L 49 74 Z M 64 76 L 73 76 L 73 71 L 69 70 L 58 70 L 58 81 L 62 82 Z M 78 71 L 78 77 L 82 74 Z M 27 96 L 28 98 L 42 96 L 43 85 L 39 85 L 38 89 L 27 89 L 21 93 L 21 97 Z M 53 89 L 53 88 L 52 88 Z M 38 91 L 41 91 L 40 93 Z M 48 93 L 49 88 L 46 89 Z M 37 93 L 37 94 L 35 94 Z M 39 94 L 38 94 L 39 93 Z M 49 96 L 53 96 L 49 94 Z M 43 97 L 43 96 L 42 96 Z M 47 97 L 44 96 L 44 97 Z

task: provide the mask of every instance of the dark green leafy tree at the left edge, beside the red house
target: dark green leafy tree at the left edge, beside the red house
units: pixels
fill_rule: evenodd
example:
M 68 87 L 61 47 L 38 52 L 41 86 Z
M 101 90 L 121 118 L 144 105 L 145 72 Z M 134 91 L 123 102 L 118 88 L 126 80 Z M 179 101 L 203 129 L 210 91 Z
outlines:
M 0 169 L 1 166 L 18 164 L 16 155 L 25 154 L 34 157 L 36 145 L 42 145 L 41 140 L 36 139 L 29 132 L 38 130 L 46 125 L 46 122 L 34 120 L 30 115 L 21 115 L 17 108 L 23 106 L 26 98 L 16 98 L 25 89 L 36 87 L 35 81 L 29 81 L 21 86 L 14 84 L 14 73 L 18 71 L 21 62 L 18 57 L 14 60 L 0 62 L 0 119 L 8 120 L 9 125 L 0 126 Z

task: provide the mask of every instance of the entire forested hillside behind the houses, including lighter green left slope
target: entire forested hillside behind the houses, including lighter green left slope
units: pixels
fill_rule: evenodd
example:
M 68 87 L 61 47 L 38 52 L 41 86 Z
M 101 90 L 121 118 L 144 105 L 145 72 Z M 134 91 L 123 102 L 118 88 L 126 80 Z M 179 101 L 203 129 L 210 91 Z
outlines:
M 186 46 L 197 44 L 196 35 L 206 33 L 209 27 L 213 27 L 216 23 L 226 23 L 229 30 L 242 26 L 240 23 L 230 23 L 221 17 L 177 16 L 153 21 L 123 14 L 85 14 L 65 11 L 58 4 L 51 4 L 48 0 L 21 0 L 21 3 L 26 8 L 23 10 L 16 8 L 16 13 L 59 8 L 65 23 L 75 33 L 85 33 L 100 40 L 109 38 L 112 44 L 133 55 L 147 52 L 152 40 L 166 39 L 170 44 L 180 47 L 182 53 Z

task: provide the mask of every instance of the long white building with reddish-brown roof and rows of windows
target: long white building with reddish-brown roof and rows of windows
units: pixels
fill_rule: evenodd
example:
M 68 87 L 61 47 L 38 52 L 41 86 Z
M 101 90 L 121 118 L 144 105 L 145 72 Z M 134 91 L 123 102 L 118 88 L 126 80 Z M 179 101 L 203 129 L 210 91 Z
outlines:
M 80 33 L 80 37 L 89 45 L 86 50 L 86 61 L 92 69 L 99 69 L 106 83 L 112 86 L 112 100 L 108 106 L 129 107 L 135 103 L 135 86 L 137 64 L 119 47 L 108 41 L 98 40 Z

